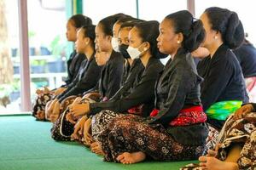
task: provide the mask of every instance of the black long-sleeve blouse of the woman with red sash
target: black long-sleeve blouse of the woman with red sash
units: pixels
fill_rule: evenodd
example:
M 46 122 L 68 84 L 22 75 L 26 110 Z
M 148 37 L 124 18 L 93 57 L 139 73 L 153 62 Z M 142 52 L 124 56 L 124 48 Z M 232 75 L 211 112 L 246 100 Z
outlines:
M 166 132 L 178 143 L 205 144 L 208 131 L 204 123 L 177 127 L 169 125 L 182 109 L 201 105 L 201 81 L 191 54 L 179 48 L 172 61 L 170 59 L 166 63 L 155 87 L 155 108 L 159 113 L 146 122 L 152 127 L 166 127 Z

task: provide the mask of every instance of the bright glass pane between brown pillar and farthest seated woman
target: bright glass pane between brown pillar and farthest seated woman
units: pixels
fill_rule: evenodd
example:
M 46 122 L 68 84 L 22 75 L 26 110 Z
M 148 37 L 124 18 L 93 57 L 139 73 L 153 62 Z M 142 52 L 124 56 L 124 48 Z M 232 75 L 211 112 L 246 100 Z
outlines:
M 66 1 L 27 0 L 32 101 L 35 90 L 67 77 Z

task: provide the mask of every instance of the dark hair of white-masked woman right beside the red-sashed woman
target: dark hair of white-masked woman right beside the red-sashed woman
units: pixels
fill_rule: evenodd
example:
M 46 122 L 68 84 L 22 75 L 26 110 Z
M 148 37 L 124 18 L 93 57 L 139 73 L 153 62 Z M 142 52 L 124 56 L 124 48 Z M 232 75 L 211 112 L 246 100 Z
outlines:
M 159 48 L 157 48 L 156 38 L 159 36 L 159 22 L 156 20 L 137 22 L 135 27 L 143 42 L 149 42 L 152 57 L 157 59 L 166 58 L 166 54 L 160 53 Z

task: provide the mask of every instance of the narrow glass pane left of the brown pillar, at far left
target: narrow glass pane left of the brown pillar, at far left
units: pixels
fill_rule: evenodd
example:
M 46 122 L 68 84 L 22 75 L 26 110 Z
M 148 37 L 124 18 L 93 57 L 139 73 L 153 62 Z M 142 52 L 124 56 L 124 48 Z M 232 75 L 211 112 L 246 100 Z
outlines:
M 20 112 L 17 0 L 0 0 L 0 114 Z

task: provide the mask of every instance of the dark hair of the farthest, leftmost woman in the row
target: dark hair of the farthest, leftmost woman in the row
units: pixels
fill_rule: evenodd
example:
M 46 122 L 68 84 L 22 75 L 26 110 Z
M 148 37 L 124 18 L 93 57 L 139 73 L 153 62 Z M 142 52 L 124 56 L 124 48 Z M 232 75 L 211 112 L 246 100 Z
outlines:
M 73 21 L 73 26 L 76 28 L 92 25 L 92 20 L 83 14 L 74 14 L 69 21 Z

